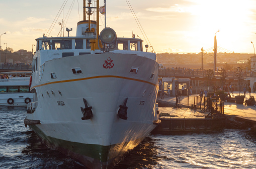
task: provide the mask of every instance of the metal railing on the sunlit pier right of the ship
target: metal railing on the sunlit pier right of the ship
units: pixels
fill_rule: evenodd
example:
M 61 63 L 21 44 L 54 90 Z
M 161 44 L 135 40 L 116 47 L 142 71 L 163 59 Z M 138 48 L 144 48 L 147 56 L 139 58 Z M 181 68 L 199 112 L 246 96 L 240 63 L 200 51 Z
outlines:
M 207 117 L 213 118 L 224 114 L 224 101 L 212 97 L 200 97 L 191 95 L 177 95 L 177 107 L 197 109 L 201 112 L 209 112 Z

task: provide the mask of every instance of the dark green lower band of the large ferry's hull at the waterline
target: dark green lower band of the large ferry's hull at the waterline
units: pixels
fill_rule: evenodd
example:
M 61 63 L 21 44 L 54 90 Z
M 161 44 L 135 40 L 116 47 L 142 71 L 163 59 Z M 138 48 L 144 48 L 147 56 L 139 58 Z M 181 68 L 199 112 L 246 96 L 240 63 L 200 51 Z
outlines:
M 137 146 L 144 139 L 143 137 L 129 142 L 122 142 L 108 146 L 85 144 L 47 136 L 37 125 L 30 124 L 29 126 L 49 147 L 68 153 L 90 168 L 114 166 L 127 152 Z

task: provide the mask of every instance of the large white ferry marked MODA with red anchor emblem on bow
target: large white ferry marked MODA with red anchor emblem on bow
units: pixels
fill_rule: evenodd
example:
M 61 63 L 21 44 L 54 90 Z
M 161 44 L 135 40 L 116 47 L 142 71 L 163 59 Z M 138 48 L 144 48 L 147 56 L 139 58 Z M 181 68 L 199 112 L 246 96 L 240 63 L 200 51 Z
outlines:
M 92 8 L 99 20 L 99 0 L 88 4 L 76 36 L 36 39 L 34 102 L 24 123 L 87 167 L 109 168 L 158 122 L 158 63 L 141 39 L 117 38 L 109 27 L 100 32 L 99 21 L 90 20 Z

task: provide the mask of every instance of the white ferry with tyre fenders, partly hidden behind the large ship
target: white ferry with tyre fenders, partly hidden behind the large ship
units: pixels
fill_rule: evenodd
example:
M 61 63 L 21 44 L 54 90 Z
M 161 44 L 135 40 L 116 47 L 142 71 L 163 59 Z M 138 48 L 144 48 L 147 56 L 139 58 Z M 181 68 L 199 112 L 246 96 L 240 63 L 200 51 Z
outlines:
M 31 71 L 1 72 L 0 105 L 27 106 L 33 101 L 33 93 L 29 91 L 30 75 Z

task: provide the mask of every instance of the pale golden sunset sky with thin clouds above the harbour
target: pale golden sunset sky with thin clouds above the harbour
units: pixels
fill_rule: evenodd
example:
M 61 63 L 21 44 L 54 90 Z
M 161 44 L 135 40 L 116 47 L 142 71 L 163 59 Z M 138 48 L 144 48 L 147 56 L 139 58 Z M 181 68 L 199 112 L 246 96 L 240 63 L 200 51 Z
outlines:
M 65 0 L 0 0 L 2 48 L 32 50 L 35 39 L 47 33 Z M 103 1 L 100 4 L 103 5 Z M 74 2 L 65 27 L 82 20 L 82 0 L 68 0 L 64 18 Z M 234 52 L 253 53 L 256 45 L 256 0 L 129 0 L 156 52 L 200 52 L 217 45 Z M 79 10 L 78 10 L 79 5 Z M 79 12 L 78 12 L 79 11 Z M 104 18 L 100 24 L 103 28 Z M 49 36 L 57 36 L 62 13 Z M 107 0 L 107 25 L 119 37 L 144 37 L 126 0 Z M 64 27 L 64 29 L 65 29 Z M 65 32 L 67 35 L 67 32 Z M 146 44 L 146 41 L 143 42 Z M 255 46 L 256 47 L 256 46 Z M 35 50 L 35 47 L 34 47 Z

